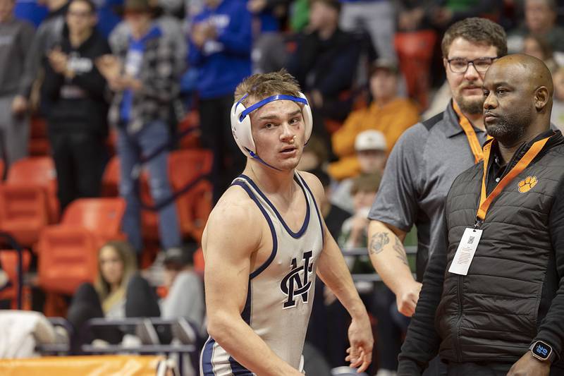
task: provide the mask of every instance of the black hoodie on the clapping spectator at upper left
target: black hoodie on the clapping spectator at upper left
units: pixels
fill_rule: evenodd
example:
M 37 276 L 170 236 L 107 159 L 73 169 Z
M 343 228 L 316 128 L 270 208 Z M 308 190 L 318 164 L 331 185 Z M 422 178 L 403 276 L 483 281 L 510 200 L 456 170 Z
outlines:
M 42 85 L 42 109 L 49 131 L 87 131 L 105 135 L 108 131 L 106 80 L 95 66 L 95 59 L 110 54 L 109 45 L 96 30 L 78 48 L 71 46 L 65 28 L 61 51 L 69 56 L 76 74 L 68 79 L 56 73 L 47 59 Z

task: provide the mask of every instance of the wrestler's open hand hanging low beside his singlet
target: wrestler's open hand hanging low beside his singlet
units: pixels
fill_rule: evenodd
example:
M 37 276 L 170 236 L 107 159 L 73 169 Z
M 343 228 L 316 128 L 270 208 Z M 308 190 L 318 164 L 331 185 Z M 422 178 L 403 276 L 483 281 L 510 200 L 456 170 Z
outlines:
M 345 360 L 350 362 L 351 367 L 358 368 L 357 372 L 367 370 L 372 363 L 372 346 L 374 346 L 372 326 L 367 313 L 360 318 L 353 318 L 350 322 L 348 340 L 350 347 L 347 349 L 348 356 Z

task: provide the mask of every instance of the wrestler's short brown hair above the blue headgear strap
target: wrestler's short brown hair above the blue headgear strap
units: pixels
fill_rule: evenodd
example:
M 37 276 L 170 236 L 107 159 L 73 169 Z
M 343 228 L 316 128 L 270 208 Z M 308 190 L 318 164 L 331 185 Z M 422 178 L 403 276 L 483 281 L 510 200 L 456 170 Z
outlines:
M 248 107 L 250 97 L 254 101 L 259 101 L 277 94 L 300 96 L 300 84 L 286 69 L 271 73 L 257 73 L 245 78 L 235 89 L 235 102 L 240 101 L 245 107 Z

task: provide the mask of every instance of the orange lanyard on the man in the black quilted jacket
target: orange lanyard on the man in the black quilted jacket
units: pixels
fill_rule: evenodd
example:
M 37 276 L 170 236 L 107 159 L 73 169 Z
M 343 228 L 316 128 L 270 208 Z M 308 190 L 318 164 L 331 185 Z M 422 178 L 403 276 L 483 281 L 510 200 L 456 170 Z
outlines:
M 491 154 L 491 144 L 493 142 L 488 142 L 486 143 L 486 145 L 484 145 L 484 176 L 482 176 L 482 193 L 480 195 L 480 205 L 476 214 L 476 224 L 474 225 L 474 229 L 477 229 L 480 225 L 482 225 L 484 219 L 486 219 L 486 213 L 488 212 L 491 202 L 493 202 L 495 198 L 498 197 L 505 186 L 507 186 L 511 181 L 513 181 L 515 177 L 517 177 L 517 175 L 521 174 L 521 172 L 525 170 L 527 166 L 529 166 L 534 157 L 537 157 L 539 152 L 541 152 L 544 145 L 546 145 L 546 142 L 548 142 L 550 138 L 551 137 L 549 136 L 547 138 L 543 138 L 542 140 L 534 142 L 532 147 L 527 150 L 525 155 L 520 159 L 519 162 L 517 162 L 517 164 L 515 164 L 513 169 L 511 169 L 507 174 L 505 174 L 505 176 L 503 176 L 496 188 L 494 188 L 494 190 L 492 190 L 491 193 L 487 195 L 487 197 L 486 176 L 488 175 L 488 161 Z

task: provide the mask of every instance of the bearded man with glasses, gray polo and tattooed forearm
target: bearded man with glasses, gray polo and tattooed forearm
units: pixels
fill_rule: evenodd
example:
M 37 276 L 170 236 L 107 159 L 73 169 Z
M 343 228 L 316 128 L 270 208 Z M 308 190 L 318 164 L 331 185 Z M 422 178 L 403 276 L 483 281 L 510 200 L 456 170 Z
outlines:
M 415 124 L 400 137 L 369 213 L 372 264 L 407 317 L 415 311 L 429 255 L 442 241 L 448 188 L 460 172 L 482 159 L 486 140 L 482 80 L 491 63 L 507 53 L 507 42 L 500 25 L 467 18 L 448 28 L 441 49 L 453 99 L 441 114 Z M 403 247 L 414 225 L 417 280 Z

